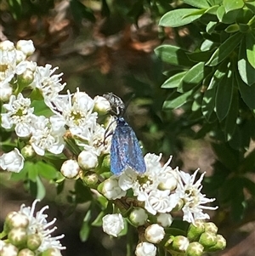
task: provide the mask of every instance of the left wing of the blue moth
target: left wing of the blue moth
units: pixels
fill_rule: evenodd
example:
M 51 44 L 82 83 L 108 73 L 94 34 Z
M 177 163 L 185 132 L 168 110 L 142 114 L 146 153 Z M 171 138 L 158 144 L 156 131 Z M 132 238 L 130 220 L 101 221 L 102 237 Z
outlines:
M 117 125 L 111 138 L 111 173 L 120 175 L 127 168 L 126 145 L 122 128 Z

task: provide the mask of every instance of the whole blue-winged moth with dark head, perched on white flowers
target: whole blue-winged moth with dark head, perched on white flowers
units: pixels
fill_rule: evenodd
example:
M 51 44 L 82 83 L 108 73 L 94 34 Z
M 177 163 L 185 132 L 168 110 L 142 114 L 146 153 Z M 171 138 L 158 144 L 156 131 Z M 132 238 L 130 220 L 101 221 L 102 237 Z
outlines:
M 116 129 L 111 138 L 111 173 L 122 174 L 132 168 L 138 174 L 144 174 L 146 166 L 139 140 L 125 119 L 122 117 L 125 105 L 115 94 L 103 95 L 111 104 L 111 111 L 116 117 Z

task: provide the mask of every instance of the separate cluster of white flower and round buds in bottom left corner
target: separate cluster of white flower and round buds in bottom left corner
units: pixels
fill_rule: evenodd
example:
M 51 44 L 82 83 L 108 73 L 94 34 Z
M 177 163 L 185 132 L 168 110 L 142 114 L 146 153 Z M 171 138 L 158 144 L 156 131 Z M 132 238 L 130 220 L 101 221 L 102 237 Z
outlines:
M 56 219 L 47 222 L 48 216 L 43 212 L 48 206 L 35 213 L 37 202 L 38 200 L 35 200 L 31 207 L 22 205 L 19 212 L 8 213 L 2 233 L 2 236 L 8 239 L 1 240 L 1 255 L 61 255 L 60 250 L 65 247 L 59 239 L 64 235 L 51 236 L 56 227 L 49 227 L 54 225 Z

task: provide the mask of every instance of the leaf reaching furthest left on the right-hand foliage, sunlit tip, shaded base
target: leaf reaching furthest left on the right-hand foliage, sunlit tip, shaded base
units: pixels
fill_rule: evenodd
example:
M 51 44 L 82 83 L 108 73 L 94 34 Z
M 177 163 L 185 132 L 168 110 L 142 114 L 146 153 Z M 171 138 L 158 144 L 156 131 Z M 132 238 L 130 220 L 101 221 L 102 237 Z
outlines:
M 192 66 L 194 62 L 189 60 L 187 52 L 173 45 L 161 45 L 155 49 L 155 54 L 162 60 L 172 65 Z

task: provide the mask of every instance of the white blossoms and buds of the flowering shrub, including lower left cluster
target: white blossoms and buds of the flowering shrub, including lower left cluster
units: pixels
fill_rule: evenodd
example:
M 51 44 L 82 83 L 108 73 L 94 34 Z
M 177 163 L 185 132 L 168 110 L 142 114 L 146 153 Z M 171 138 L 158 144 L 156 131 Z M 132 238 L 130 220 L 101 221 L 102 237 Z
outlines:
M 9 145 L 9 138 L 3 141 L 0 167 L 12 173 L 12 178 L 19 179 L 22 173 L 26 180 L 32 179 L 31 173 L 37 169 L 33 182 L 36 180 L 38 190 L 43 190 L 42 177 L 62 187 L 65 179 L 74 179 L 70 201 L 74 205 L 98 202 L 100 211 L 97 219 L 84 218 L 84 228 L 91 228 L 93 222 L 110 236 L 124 236 L 133 225 L 138 230 L 133 239 L 137 256 L 162 251 L 201 255 L 223 249 L 224 237 L 206 222 L 210 219 L 207 210 L 217 206 L 211 205 L 214 198 L 201 192 L 204 173 L 199 169 L 194 174 L 184 173 L 169 166 L 172 156 L 164 164 L 161 154 L 147 153 L 145 173 L 127 168 L 113 175 L 111 134 L 116 123 L 109 114 L 111 102 L 99 95 L 92 99 L 79 88 L 65 92 L 57 68 L 28 59 L 34 50 L 31 41 L 19 41 L 16 46 L 9 41 L 0 43 L 1 129 L 12 138 Z M 45 208 L 34 216 L 36 202 L 31 208 L 22 206 L 20 212 L 8 214 L 0 255 L 23 255 L 24 250 L 32 251 L 31 255 L 57 250 L 54 255 L 59 255 L 65 248 L 59 242 L 62 236 L 50 235 L 54 229 L 47 228 L 54 221 L 47 224 Z M 89 212 L 94 205 L 90 204 Z M 180 219 L 186 230 L 175 223 Z M 36 244 L 29 242 L 31 236 L 38 236 Z

